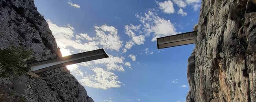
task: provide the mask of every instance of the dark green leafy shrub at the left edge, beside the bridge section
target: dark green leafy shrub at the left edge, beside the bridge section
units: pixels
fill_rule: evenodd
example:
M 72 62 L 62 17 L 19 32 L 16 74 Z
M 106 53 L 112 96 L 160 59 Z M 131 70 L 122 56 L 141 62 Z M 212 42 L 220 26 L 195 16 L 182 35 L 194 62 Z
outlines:
M 27 74 L 31 68 L 28 62 L 34 60 L 34 52 L 23 47 L 0 49 L 0 77 Z

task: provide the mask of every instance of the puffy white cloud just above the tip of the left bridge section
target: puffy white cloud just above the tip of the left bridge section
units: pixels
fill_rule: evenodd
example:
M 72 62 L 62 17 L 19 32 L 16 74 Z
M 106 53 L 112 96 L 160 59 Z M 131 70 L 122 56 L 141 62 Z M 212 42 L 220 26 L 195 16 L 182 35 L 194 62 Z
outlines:
M 96 29 L 96 36 L 99 39 L 99 44 L 101 44 L 104 48 L 108 50 L 116 50 L 123 46 L 123 42 L 120 41 L 119 36 L 117 35 L 117 29 L 113 26 L 107 26 L 106 24 L 98 27 L 94 26 Z M 108 34 L 106 34 L 108 32 Z

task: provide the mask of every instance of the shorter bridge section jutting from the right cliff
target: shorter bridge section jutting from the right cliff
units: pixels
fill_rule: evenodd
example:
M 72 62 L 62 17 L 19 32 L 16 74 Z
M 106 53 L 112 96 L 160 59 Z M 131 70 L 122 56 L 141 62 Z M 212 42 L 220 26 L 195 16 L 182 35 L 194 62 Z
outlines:
M 157 38 L 157 49 L 193 44 L 197 31 Z

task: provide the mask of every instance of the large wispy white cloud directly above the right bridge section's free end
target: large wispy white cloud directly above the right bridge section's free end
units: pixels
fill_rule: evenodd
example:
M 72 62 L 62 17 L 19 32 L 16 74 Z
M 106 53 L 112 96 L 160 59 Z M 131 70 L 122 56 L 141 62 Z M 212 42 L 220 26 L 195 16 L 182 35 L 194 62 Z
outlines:
M 145 13 L 144 16 L 137 14 L 136 17 L 138 17 L 143 24 L 143 31 L 146 33 L 146 36 L 150 36 L 150 34 L 153 33 L 152 42 L 156 41 L 156 38 L 159 37 L 177 34 L 176 29 L 170 20 L 160 18 L 152 11 Z

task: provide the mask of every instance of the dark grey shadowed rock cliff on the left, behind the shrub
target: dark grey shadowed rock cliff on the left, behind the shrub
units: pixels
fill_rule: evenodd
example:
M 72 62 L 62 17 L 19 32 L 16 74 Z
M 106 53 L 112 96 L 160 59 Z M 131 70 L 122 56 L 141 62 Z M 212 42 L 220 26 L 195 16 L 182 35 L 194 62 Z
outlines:
M 33 0 L 0 1 L 0 48 L 10 46 L 33 49 L 38 61 L 61 56 L 48 24 L 38 13 Z M 5 101 L 93 102 L 66 68 L 39 75 L 40 78 L 0 78 L 0 94 L 5 96 Z

